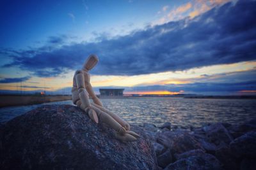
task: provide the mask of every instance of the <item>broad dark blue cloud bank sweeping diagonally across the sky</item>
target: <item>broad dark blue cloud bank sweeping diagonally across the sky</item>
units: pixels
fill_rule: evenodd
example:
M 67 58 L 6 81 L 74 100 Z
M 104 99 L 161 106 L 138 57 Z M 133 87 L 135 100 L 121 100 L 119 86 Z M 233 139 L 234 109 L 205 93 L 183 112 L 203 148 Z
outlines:
M 192 20 L 147 27 L 113 39 L 99 38 L 97 43 L 12 53 L 14 61 L 6 66 L 19 66 L 37 76 L 58 76 L 79 69 L 95 53 L 100 62 L 92 73 L 134 75 L 255 60 L 255 9 L 256 1 L 227 3 Z

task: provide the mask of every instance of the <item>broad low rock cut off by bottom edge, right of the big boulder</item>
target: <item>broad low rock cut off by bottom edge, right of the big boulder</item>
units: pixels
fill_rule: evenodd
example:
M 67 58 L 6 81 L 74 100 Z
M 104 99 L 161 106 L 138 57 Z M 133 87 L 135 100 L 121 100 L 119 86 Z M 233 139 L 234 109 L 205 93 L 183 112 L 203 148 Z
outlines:
M 179 159 L 173 164 L 169 164 L 164 170 L 178 170 L 178 169 L 189 169 L 189 170 L 198 170 L 198 169 L 221 169 L 221 164 L 211 154 L 204 153 L 203 155 L 195 155 L 188 157 L 186 159 Z

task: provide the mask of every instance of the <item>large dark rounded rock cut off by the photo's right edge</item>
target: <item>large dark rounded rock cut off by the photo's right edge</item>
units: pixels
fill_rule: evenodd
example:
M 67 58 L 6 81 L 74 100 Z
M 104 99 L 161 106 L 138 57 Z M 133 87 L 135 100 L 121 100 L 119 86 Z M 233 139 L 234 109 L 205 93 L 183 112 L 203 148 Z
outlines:
M 256 158 L 256 131 L 247 132 L 243 136 L 234 139 L 230 143 L 230 149 L 232 154 L 238 158 Z

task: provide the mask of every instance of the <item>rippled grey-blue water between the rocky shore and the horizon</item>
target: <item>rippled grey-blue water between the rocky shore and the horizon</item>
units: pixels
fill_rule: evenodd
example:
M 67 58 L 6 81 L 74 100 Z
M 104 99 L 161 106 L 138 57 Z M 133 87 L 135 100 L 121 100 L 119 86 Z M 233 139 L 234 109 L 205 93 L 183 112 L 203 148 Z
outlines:
M 136 98 L 100 99 L 109 110 L 133 124 L 172 122 L 173 125 L 200 126 L 207 122 L 239 124 L 256 118 L 256 100 Z M 72 104 L 61 101 L 46 104 Z M 45 104 L 0 108 L 0 122 L 6 122 Z

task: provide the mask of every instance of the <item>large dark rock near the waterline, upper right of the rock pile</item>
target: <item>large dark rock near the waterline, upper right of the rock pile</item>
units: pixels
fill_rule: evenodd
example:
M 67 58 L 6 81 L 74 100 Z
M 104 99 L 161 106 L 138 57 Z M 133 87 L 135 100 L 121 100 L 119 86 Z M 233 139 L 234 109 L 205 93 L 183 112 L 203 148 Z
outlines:
M 227 129 L 220 123 L 203 127 L 207 138 L 214 144 L 219 145 L 221 141 L 229 144 L 233 138 Z

